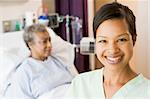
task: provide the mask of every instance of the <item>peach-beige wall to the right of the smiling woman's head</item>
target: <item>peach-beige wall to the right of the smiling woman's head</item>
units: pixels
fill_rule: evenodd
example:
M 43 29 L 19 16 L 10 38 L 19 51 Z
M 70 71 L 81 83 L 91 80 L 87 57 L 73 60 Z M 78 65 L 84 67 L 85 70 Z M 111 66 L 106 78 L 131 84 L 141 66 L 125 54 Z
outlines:
M 96 1 L 96 0 L 95 0 Z M 112 0 L 101 0 L 102 3 Z M 104 1 L 104 2 L 103 2 Z M 106 2 L 107 1 L 107 2 Z M 149 0 L 117 0 L 133 10 L 136 16 L 137 42 L 134 47 L 134 55 L 131 66 L 136 72 L 142 72 L 150 78 L 150 1 Z M 149 5 L 149 6 L 148 6 Z M 90 32 L 89 32 L 90 33 Z

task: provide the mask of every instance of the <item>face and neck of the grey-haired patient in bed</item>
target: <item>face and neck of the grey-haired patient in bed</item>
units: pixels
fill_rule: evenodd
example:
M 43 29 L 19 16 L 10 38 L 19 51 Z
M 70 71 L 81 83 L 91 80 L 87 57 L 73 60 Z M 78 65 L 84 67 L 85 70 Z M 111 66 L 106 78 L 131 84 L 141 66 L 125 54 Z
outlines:
M 30 44 L 31 55 L 33 58 L 45 60 L 51 54 L 51 38 L 47 32 L 39 32 L 33 35 L 34 39 Z

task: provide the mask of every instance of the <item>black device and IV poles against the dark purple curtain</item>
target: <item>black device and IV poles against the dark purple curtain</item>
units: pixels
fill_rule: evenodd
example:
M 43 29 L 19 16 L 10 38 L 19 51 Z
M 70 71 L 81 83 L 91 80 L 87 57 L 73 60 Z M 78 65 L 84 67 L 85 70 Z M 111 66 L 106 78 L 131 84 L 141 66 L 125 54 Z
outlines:
M 76 32 L 75 29 L 80 30 L 80 28 L 82 28 L 82 20 L 79 19 L 79 17 L 69 16 L 69 15 L 62 16 L 62 15 L 58 15 L 58 13 L 50 13 L 50 14 L 48 14 L 48 20 L 49 20 L 48 26 L 51 28 L 57 28 L 57 27 L 59 27 L 59 23 L 65 21 L 66 40 L 68 42 L 71 42 L 70 27 L 69 27 L 69 24 L 71 23 L 72 32 L 73 32 L 73 35 L 72 35 L 73 44 L 76 43 L 75 33 L 79 32 L 79 31 Z M 72 21 L 70 22 L 70 20 L 72 20 Z M 79 23 L 79 21 L 81 21 L 81 23 Z M 82 35 L 82 33 L 80 33 L 80 34 Z

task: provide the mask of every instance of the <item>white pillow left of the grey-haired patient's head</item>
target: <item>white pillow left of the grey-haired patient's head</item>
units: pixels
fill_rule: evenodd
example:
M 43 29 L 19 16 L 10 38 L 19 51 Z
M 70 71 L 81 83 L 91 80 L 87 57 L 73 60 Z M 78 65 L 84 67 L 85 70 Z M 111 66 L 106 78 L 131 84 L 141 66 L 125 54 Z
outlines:
M 21 60 L 29 56 L 30 51 L 23 40 L 23 31 L 4 33 L 0 35 L 0 48 L 8 53 L 18 55 Z M 23 50 L 23 51 L 22 51 Z

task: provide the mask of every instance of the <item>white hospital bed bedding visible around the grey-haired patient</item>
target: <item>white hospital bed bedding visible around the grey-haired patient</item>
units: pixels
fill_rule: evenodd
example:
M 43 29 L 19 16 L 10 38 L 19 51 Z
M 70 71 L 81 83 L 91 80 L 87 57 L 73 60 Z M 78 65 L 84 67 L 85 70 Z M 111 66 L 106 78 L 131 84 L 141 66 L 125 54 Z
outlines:
M 77 75 L 78 72 L 74 66 L 74 46 L 57 36 L 52 29 L 47 29 L 53 46 L 52 55 L 61 58 L 68 65 L 70 72 Z M 13 75 L 16 66 L 30 54 L 22 34 L 23 31 L 0 34 L 0 98 L 5 92 L 7 80 Z M 69 85 L 58 86 L 50 92 L 44 93 L 39 99 L 62 99 Z

